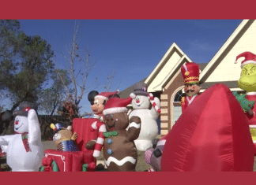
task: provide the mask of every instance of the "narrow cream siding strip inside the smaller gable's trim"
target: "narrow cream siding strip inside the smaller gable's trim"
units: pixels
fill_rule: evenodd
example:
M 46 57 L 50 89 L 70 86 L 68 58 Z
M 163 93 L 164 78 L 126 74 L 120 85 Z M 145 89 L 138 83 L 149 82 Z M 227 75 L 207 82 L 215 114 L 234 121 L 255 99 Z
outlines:
M 160 72 L 157 74 L 156 78 L 152 80 L 152 83 L 150 83 L 148 87 L 149 92 L 156 91 L 154 87 L 158 86 L 166 76 L 168 76 L 169 72 L 171 71 L 172 68 L 175 67 L 177 62 L 180 60 L 181 56 L 174 52 L 174 54 L 171 55 L 171 57 L 168 59 L 164 67 L 160 70 Z

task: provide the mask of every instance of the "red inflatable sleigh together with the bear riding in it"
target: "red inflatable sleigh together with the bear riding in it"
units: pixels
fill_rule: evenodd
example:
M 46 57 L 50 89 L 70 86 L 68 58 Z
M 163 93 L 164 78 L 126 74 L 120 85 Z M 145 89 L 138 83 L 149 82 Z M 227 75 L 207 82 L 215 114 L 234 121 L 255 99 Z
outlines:
M 96 118 L 73 119 L 71 128 L 63 128 L 60 124 L 51 125 L 57 133 L 55 143 L 58 150 L 45 150 L 42 160 L 42 172 L 92 172 L 96 168 L 93 150 L 87 150 L 85 143 L 97 138 L 98 131 L 92 131 L 92 123 Z M 76 134 L 77 133 L 77 134 Z

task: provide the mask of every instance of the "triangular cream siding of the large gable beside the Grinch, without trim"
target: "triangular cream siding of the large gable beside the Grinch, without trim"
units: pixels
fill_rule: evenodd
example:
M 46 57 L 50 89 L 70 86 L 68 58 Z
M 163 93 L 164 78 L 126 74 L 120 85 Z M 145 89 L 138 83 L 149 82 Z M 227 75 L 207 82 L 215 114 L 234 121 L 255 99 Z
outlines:
M 250 28 L 247 29 L 205 82 L 239 80 L 241 61 L 244 60 L 244 57 L 239 58 L 237 64 L 234 62 L 236 56 L 245 51 L 256 54 L 256 21 L 250 25 Z

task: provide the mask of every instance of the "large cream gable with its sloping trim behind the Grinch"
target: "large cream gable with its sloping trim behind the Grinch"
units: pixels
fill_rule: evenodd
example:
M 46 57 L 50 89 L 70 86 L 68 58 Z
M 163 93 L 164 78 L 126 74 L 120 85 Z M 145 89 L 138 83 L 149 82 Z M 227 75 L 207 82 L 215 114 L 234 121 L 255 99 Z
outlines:
M 235 31 L 233 31 L 232 35 L 228 38 L 224 45 L 220 47 L 220 50 L 217 51 L 212 60 L 209 61 L 208 65 L 206 65 L 205 70 L 201 72 L 200 83 L 213 82 L 214 80 L 216 80 L 214 79 L 215 77 L 213 76 L 209 78 L 209 76 L 211 76 L 212 74 L 214 74 L 215 76 L 221 74 L 221 77 L 218 80 L 216 80 L 217 82 L 239 79 L 241 68 L 240 65 L 235 65 L 234 61 L 235 57 L 243 51 L 250 51 L 256 49 L 251 44 L 254 41 L 252 41 L 252 37 L 250 38 L 250 34 L 253 33 L 245 34 L 245 32 L 249 30 L 250 26 L 253 23 L 254 20 L 243 20 L 241 24 L 239 24 L 239 26 L 235 29 Z M 254 32 L 254 30 L 252 30 L 251 32 Z M 244 39 L 244 41 L 241 41 L 240 45 L 238 46 L 239 40 L 241 40 L 243 36 L 246 36 L 247 38 Z M 243 44 L 241 44 L 242 42 Z M 215 70 L 218 66 L 218 70 L 220 71 L 218 71 L 219 73 L 216 73 Z

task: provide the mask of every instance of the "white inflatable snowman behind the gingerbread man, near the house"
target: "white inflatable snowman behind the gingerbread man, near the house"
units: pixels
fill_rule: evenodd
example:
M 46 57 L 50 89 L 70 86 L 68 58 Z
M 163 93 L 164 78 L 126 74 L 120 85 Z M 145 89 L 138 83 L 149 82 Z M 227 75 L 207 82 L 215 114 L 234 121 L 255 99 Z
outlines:
M 130 96 L 133 98 L 133 109 L 128 113 L 129 119 L 141 118 L 141 132 L 134 142 L 137 150 L 145 151 L 152 148 L 152 140 L 156 139 L 158 133 L 156 119 L 160 114 L 160 100 L 153 98 L 152 94 L 147 92 L 146 84 L 142 82 L 134 85 L 134 92 Z

